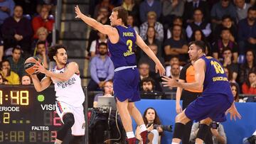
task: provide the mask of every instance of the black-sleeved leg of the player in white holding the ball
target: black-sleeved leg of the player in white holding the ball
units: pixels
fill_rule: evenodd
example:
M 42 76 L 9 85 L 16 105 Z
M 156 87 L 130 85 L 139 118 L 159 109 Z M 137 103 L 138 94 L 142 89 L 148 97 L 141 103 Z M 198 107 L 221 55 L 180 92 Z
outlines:
M 60 144 L 67 135 L 68 130 L 73 126 L 75 123 L 75 118 L 73 113 L 65 113 L 63 115 L 63 126 L 57 132 L 57 138 L 55 140 L 55 144 Z

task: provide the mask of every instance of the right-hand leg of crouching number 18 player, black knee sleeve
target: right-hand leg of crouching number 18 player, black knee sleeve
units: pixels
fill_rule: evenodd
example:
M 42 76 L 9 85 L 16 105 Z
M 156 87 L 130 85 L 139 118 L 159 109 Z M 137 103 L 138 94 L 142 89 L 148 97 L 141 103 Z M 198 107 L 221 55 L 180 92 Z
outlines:
M 210 123 L 212 120 L 206 118 L 200 121 L 198 134 L 196 135 L 196 144 L 201 144 L 203 141 L 206 141 L 206 135 L 210 133 Z

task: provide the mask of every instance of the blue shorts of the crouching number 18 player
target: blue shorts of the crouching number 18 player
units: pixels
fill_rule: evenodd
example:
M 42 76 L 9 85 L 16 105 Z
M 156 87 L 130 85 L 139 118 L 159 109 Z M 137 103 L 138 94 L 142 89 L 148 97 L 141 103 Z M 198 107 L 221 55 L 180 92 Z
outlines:
M 188 105 L 185 115 L 196 121 L 209 117 L 213 121 L 223 122 L 226 121 L 225 111 L 231 105 L 232 102 L 228 100 L 228 96 L 225 94 L 205 94 Z

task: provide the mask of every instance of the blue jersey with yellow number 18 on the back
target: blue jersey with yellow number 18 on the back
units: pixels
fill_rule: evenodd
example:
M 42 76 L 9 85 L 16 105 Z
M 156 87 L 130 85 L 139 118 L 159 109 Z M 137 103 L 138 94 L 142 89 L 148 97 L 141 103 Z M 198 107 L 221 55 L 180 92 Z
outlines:
M 203 82 L 203 95 L 204 94 L 225 94 L 231 101 L 233 94 L 231 92 L 228 77 L 225 74 L 223 66 L 213 57 L 202 56 L 206 62 L 206 74 Z M 233 101 L 233 100 L 232 100 Z

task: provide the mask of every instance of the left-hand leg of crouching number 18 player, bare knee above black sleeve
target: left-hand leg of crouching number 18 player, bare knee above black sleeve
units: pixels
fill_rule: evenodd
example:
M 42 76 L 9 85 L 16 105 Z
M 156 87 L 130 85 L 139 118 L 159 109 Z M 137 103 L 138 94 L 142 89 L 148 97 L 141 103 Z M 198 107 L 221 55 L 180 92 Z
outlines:
M 172 139 L 172 144 L 181 143 L 183 131 L 185 130 L 185 125 L 188 123 L 188 121 L 191 120 L 186 116 L 185 110 L 183 110 L 181 113 L 178 113 L 175 118 L 174 137 Z

